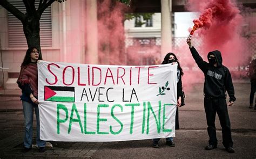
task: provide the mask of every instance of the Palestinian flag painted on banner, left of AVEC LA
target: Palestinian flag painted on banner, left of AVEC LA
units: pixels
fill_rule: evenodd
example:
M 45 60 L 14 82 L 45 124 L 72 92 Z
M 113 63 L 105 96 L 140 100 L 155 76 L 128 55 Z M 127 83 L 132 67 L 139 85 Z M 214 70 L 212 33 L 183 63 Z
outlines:
M 45 85 L 44 100 L 53 102 L 75 102 L 75 87 Z

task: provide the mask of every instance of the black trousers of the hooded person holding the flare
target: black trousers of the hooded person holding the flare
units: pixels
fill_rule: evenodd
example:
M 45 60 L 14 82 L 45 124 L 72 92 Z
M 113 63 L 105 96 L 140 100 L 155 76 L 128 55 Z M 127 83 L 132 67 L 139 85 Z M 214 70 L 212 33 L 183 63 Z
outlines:
M 208 141 L 209 144 L 212 144 L 213 146 L 217 146 L 218 144 L 215 128 L 215 117 L 217 112 L 220 120 L 220 125 L 222 128 L 223 145 L 225 148 L 233 147 L 230 118 L 228 116 L 226 99 L 205 97 L 204 107 L 208 125 L 207 132 L 210 138 Z

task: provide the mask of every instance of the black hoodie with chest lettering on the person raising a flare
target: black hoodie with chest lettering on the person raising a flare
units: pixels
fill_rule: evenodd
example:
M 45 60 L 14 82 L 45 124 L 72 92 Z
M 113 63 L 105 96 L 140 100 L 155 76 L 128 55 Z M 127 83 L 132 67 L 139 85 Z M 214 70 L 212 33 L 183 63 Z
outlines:
M 208 57 L 213 54 L 216 57 L 217 67 L 205 62 L 194 47 L 190 48 L 190 51 L 198 67 L 205 75 L 204 95 L 212 98 L 226 98 L 227 91 L 228 96 L 230 96 L 229 101 L 234 102 L 234 86 L 231 74 L 228 68 L 222 64 L 220 51 L 214 50 L 207 55 Z

